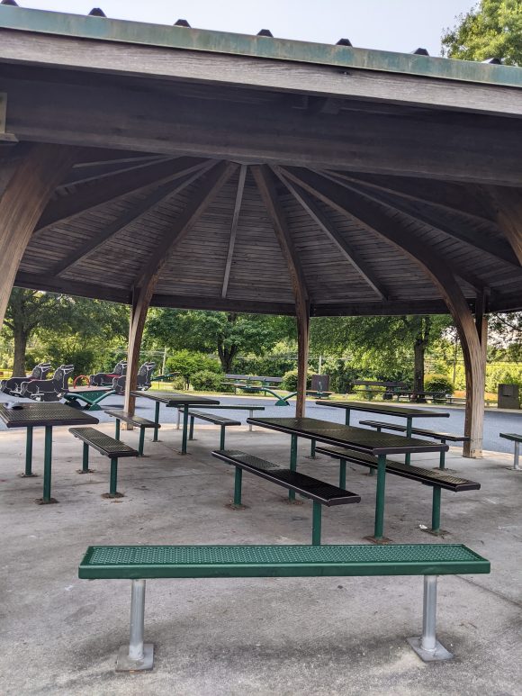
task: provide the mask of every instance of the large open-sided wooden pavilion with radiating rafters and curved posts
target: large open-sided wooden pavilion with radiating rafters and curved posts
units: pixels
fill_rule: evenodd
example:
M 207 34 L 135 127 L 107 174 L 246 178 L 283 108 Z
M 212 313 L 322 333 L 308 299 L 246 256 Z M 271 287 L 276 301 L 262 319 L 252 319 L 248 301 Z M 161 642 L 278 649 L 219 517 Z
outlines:
M 128 303 L 132 388 L 151 305 L 295 314 L 302 415 L 311 316 L 450 312 L 482 455 L 522 68 L 0 5 L 0 325 L 13 285 Z

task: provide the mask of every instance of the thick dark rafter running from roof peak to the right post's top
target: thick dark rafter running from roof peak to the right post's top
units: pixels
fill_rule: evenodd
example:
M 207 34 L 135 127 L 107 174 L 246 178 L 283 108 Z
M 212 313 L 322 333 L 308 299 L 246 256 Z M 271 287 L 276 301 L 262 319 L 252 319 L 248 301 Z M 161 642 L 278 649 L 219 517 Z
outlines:
M 461 277 L 475 289 L 480 290 L 485 285 L 480 278 L 467 269 L 455 267 L 449 259 L 440 256 L 436 249 L 416 240 L 409 231 L 404 230 L 401 222 L 385 215 L 384 209 L 389 206 L 380 203 L 376 198 L 361 194 L 346 183 L 340 184 L 333 177 L 320 176 L 305 169 L 284 168 L 284 176 L 301 185 L 310 194 L 338 212 L 359 221 L 365 229 L 390 242 L 393 247 L 400 249 L 410 258 L 416 258 L 417 254 L 422 254 L 422 250 L 425 249 L 439 266 L 451 269 L 455 276 Z

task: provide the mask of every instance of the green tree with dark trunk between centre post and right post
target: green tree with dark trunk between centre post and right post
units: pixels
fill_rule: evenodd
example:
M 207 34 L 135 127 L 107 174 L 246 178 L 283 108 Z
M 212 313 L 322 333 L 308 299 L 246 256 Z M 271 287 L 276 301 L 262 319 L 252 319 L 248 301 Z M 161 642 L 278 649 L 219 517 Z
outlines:
M 446 316 L 328 317 L 311 322 L 311 347 L 320 352 L 349 353 L 376 376 L 404 378 L 413 353 L 413 390 L 424 391 L 428 348 L 451 326 Z M 405 369 L 406 368 L 406 369 Z

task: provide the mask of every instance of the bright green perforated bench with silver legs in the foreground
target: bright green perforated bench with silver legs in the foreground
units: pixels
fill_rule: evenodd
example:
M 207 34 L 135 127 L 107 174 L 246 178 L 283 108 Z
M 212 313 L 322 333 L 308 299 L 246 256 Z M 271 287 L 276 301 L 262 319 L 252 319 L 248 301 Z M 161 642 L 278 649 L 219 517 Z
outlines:
M 409 638 L 425 661 L 453 655 L 437 641 L 437 575 L 490 573 L 490 562 L 462 545 L 252 547 L 88 547 L 78 576 L 131 581 L 130 643 L 116 671 L 152 669 L 154 646 L 143 642 L 149 578 L 353 577 L 424 575 L 422 636 Z M 190 628 L 189 628 L 190 630 Z

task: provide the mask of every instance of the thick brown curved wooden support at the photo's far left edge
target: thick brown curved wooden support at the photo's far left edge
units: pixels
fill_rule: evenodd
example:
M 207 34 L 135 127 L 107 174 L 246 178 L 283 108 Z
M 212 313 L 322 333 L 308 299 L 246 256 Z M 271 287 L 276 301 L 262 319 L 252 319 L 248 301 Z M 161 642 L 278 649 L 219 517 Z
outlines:
M 0 197 L 0 328 L 32 230 L 75 157 L 76 149 L 28 148 Z

